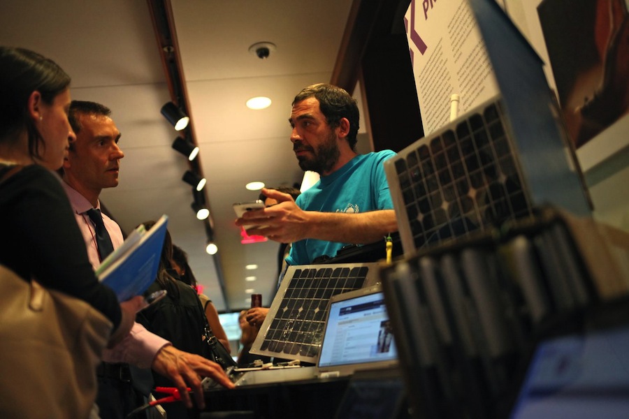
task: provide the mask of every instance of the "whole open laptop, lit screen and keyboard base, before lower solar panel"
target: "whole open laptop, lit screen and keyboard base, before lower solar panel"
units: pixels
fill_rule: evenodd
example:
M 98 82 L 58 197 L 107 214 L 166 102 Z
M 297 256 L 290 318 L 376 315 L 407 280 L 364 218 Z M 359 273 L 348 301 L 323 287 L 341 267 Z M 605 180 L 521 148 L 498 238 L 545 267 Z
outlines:
M 334 295 L 328 306 L 314 366 L 233 368 L 227 372 L 233 383 L 242 387 L 397 368 L 398 352 L 379 284 Z

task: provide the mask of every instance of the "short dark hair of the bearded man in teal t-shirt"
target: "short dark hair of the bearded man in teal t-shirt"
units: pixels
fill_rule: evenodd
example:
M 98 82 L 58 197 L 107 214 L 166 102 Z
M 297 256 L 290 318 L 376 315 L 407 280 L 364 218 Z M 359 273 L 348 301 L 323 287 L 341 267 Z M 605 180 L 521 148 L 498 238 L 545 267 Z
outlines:
M 356 104 L 356 99 L 340 87 L 332 84 L 319 83 L 305 87 L 300 91 L 292 103 L 295 105 L 307 98 L 315 96 L 319 101 L 319 109 L 326 117 L 326 122 L 331 128 L 336 128 L 340 124 L 341 118 L 347 118 L 349 121 L 349 133 L 347 133 L 347 142 L 352 150 L 356 150 L 356 135 L 358 134 L 359 122 L 361 115 Z

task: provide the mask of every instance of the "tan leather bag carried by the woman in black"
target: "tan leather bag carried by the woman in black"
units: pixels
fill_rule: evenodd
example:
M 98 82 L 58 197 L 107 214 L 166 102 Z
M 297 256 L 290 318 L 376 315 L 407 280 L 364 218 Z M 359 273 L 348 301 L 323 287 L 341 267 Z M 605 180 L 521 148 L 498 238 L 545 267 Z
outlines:
M 111 329 L 87 302 L 0 265 L 0 418 L 87 418 Z

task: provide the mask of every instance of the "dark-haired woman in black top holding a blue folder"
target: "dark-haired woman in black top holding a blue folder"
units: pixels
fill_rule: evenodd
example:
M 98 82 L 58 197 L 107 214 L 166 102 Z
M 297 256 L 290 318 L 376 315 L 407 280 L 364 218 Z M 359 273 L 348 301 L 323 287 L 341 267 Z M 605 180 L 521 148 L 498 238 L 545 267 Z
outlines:
M 101 311 L 113 323 L 113 346 L 129 333 L 144 303 L 136 297 L 120 304 L 96 278 L 55 173 L 75 140 L 68 123 L 69 85 L 54 61 L 0 46 L 0 265 Z M 11 384 L 5 380 L 0 377 L 0 387 Z

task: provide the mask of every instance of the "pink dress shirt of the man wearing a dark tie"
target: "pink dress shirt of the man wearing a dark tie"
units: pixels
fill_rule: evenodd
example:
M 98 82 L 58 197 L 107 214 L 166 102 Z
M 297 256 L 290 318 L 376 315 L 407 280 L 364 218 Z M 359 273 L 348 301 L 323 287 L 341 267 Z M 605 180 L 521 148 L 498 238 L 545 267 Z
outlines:
M 87 210 L 92 208 L 92 204 L 66 182 L 62 182 L 62 184 L 70 199 L 83 240 L 85 240 L 87 256 L 94 269 L 96 269 L 101 265 L 99 251 L 96 247 L 96 233 L 94 231 L 94 223 L 85 214 Z M 100 210 L 100 203 L 97 208 Z M 111 237 L 113 248 L 116 249 L 124 241 L 122 230 L 120 230 L 120 226 L 113 219 L 110 219 L 106 214 L 102 215 L 105 228 Z M 120 344 L 117 344 L 112 349 L 103 351 L 103 361 L 126 362 L 127 364 L 136 365 L 136 367 L 150 368 L 157 352 L 169 344 L 171 342 L 149 332 L 140 323 L 135 323 L 129 335 L 122 339 Z

